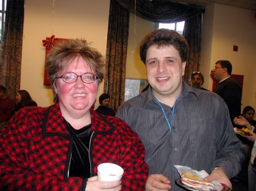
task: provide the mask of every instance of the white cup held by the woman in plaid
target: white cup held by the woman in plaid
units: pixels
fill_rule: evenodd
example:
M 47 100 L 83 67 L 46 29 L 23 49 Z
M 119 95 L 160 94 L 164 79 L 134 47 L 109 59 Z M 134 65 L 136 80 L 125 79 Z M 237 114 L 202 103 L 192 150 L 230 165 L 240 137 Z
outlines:
M 112 163 L 102 163 L 97 169 L 98 181 L 117 181 L 123 176 L 123 168 Z

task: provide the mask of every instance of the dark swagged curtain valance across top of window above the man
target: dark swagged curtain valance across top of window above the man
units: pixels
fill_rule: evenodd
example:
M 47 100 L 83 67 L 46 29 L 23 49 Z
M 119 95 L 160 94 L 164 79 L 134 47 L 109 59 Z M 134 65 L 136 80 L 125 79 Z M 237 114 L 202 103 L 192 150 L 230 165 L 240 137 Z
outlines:
M 170 0 L 116 0 L 119 5 L 134 14 L 154 23 L 175 23 L 190 20 L 204 13 L 205 8 L 175 3 Z

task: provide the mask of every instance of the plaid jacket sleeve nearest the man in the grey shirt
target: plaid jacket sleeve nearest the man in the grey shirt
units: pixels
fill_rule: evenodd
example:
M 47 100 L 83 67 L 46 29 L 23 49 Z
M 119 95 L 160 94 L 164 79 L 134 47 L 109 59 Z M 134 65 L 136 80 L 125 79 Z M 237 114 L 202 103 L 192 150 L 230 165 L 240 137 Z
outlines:
M 145 188 L 148 166 L 144 161 L 145 149 L 139 136 L 121 119 L 117 119 L 120 144 L 123 145 L 120 166 L 124 169 L 122 178 L 122 191 L 143 191 Z

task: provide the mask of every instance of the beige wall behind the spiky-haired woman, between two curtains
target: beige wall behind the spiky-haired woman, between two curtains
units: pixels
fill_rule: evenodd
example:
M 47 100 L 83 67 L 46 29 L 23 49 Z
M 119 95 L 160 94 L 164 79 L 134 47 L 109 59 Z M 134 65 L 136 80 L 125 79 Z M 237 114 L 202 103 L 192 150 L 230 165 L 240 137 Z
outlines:
M 43 85 L 45 47 L 42 40 L 52 34 L 57 38 L 83 38 L 106 55 L 109 2 L 26 0 L 20 89 L 30 92 L 39 106 L 53 104 L 51 88 Z M 103 82 L 98 97 L 102 92 Z

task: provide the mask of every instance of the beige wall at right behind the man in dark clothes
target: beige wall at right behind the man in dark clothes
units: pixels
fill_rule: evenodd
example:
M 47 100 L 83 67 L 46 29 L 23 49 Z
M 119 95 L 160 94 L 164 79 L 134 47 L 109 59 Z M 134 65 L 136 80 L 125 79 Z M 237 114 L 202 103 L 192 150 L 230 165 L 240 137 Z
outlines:
M 201 71 L 205 88 L 212 89 L 209 73 L 220 59 L 232 63 L 232 73 L 244 75 L 242 106 L 256 109 L 255 11 L 215 3 L 206 7 L 203 21 Z M 238 52 L 233 46 L 238 46 Z

